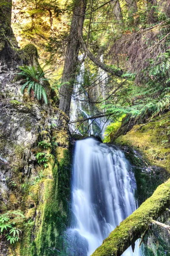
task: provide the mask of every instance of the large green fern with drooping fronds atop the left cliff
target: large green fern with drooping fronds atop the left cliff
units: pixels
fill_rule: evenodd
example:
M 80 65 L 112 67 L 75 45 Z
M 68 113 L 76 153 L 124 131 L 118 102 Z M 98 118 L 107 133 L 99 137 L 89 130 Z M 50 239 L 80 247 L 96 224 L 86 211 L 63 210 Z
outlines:
M 22 70 L 19 75 L 26 77 L 26 82 L 21 88 L 21 93 L 23 93 L 26 87 L 28 87 L 28 93 L 33 91 L 34 97 L 36 97 L 38 100 L 41 100 L 43 97 L 45 104 L 48 104 L 47 93 L 45 88 L 42 86 L 42 81 L 47 81 L 48 79 L 44 78 L 45 73 L 42 71 L 42 69 L 26 65 L 20 66 L 19 68 Z

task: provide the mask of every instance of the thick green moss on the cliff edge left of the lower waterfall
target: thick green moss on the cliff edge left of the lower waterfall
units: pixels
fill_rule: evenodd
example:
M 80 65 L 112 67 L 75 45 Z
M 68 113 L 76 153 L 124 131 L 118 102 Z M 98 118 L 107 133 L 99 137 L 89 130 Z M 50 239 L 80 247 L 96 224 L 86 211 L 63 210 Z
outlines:
M 45 177 L 29 188 L 26 207 L 34 204 L 34 208 L 28 209 L 26 217 L 33 218 L 36 211 L 36 221 L 34 230 L 24 234 L 22 243 L 26 249 L 20 247 L 20 256 L 51 256 L 54 248 L 57 255 L 65 255 L 62 233 L 69 224 L 71 156 L 68 149 L 57 149 L 43 171 Z

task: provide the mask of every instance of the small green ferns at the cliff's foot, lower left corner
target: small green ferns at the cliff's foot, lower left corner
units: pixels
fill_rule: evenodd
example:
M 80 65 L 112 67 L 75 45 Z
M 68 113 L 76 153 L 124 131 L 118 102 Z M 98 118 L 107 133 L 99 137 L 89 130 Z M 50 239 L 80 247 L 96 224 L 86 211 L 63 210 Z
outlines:
M 10 244 L 14 244 L 20 239 L 21 230 L 18 225 L 24 220 L 23 212 L 8 211 L 0 215 L 0 235 Z

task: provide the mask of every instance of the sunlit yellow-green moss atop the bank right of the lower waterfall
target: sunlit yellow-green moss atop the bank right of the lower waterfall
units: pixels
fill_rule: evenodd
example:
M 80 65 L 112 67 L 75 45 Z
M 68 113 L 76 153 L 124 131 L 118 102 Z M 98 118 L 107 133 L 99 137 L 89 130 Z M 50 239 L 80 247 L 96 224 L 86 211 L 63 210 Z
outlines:
M 141 126 L 135 125 L 126 135 L 116 139 L 116 144 L 133 147 L 149 161 L 170 172 L 170 112 Z M 166 143 L 164 143 L 166 141 Z

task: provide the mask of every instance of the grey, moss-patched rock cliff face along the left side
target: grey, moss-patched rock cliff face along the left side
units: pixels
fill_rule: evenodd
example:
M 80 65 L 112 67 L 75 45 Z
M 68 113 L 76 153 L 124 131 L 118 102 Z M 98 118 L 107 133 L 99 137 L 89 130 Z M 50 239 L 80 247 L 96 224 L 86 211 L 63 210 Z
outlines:
M 27 56 L 28 60 L 28 56 Z M 68 117 L 20 93 L 16 70 L 0 67 L 0 214 L 24 212 L 20 240 L 1 236 L 0 255 L 64 255 L 69 223 L 71 153 Z M 40 154 L 39 154 L 40 153 Z M 38 163 L 39 162 L 39 163 Z

